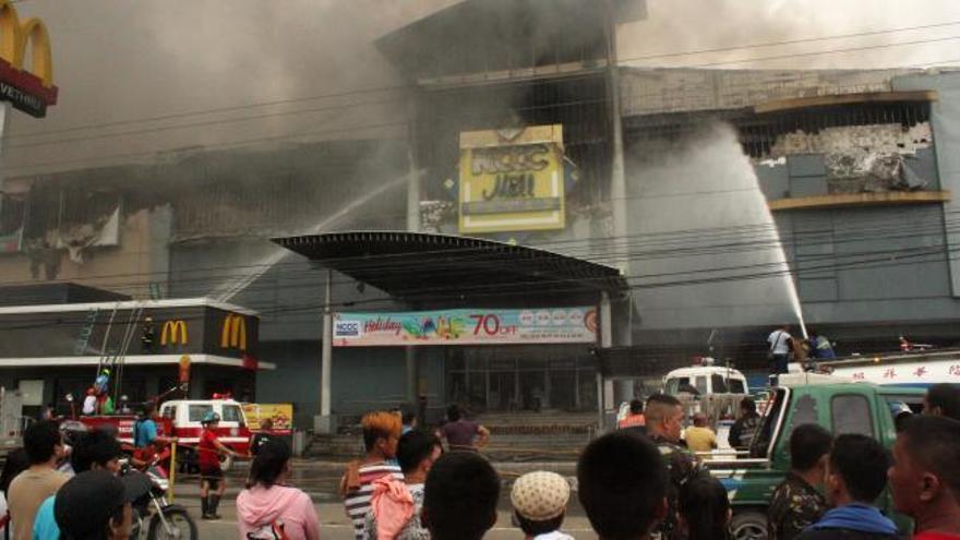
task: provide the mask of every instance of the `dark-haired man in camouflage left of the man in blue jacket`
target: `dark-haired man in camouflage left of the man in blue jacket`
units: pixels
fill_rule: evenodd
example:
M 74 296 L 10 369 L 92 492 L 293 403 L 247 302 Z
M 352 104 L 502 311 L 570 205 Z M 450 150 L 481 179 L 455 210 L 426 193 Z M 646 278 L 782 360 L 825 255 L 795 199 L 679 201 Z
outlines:
M 833 437 L 824 428 L 805 423 L 790 435 L 790 472 L 773 491 L 767 508 L 770 540 L 792 540 L 827 511 L 823 487 Z

